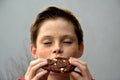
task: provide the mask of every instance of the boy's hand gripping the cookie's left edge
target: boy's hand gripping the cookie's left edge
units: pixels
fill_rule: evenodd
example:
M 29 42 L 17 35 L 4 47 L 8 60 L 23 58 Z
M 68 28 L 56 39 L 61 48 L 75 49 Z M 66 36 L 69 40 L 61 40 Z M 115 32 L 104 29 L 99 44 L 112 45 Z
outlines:
M 25 74 L 25 80 L 47 80 L 49 72 L 47 70 L 38 70 L 47 64 L 47 60 L 43 58 L 36 59 L 31 61 L 27 72 Z M 43 79 L 44 78 L 44 79 Z

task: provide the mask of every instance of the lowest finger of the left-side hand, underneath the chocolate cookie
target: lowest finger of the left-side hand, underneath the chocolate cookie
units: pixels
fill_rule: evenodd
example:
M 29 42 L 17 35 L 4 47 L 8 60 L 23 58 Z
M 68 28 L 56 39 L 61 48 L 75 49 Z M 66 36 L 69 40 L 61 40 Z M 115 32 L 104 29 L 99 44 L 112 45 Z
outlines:
M 33 78 L 33 80 L 47 80 L 49 72 L 47 70 L 43 70 L 36 74 L 36 76 Z

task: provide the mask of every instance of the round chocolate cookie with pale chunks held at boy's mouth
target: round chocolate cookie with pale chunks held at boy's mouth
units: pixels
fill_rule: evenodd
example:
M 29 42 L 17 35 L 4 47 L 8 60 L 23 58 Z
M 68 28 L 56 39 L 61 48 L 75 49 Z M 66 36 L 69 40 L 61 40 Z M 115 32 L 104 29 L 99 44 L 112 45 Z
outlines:
M 57 73 L 68 73 L 74 70 L 75 66 L 71 65 L 68 58 L 56 57 L 53 59 L 47 59 L 48 64 L 42 68 L 48 71 Z

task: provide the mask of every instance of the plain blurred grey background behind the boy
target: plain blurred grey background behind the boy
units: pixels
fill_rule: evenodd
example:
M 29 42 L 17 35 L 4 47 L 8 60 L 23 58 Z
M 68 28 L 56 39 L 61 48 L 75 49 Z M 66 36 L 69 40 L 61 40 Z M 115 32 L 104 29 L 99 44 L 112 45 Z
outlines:
M 96 80 L 120 80 L 120 0 L 0 0 L 0 80 L 23 77 L 29 61 L 29 28 L 47 6 L 71 10 L 84 30 L 85 51 Z

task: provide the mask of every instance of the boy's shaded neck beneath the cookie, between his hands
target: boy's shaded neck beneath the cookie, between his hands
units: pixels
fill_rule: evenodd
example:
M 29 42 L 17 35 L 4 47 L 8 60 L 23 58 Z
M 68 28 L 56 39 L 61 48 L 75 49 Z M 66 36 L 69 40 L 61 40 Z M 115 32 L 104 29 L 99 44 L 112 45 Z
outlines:
M 53 73 L 50 72 L 48 80 L 70 80 L 68 73 Z

